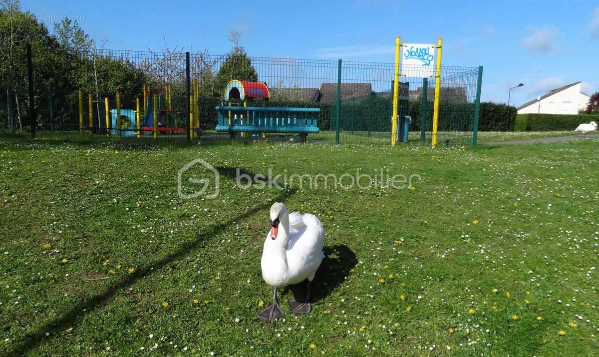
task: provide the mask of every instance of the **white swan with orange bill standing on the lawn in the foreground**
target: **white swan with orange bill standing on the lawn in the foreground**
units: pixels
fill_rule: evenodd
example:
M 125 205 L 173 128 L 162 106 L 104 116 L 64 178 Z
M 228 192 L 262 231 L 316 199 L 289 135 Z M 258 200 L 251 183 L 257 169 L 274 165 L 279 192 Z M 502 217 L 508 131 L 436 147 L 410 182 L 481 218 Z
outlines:
M 271 229 L 264 241 L 262 252 L 262 277 L 273 287 L 273 304 L 258 314 L 261 319 L 272 321 L 285 316 L 277 301 L 277 288 L 294 285 L 308 279 L 305 301 L 289 301 L 291 312 L 309 313 L 310 288 L 316 270 L 325 257 L 322 241 L 325 229 L 313 214 L 289 214 L 287 207 L 276 202 L 270 208 Z

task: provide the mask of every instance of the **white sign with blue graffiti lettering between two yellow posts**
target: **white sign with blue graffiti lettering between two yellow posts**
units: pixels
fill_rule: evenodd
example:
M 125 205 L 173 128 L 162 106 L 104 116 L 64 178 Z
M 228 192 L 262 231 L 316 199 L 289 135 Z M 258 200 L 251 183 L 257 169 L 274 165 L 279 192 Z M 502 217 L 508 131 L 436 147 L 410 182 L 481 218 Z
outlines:
M 401 46 L 401 74 L 406 77 L 432 77 L 435 66 L 432 44 L 404 43 Z

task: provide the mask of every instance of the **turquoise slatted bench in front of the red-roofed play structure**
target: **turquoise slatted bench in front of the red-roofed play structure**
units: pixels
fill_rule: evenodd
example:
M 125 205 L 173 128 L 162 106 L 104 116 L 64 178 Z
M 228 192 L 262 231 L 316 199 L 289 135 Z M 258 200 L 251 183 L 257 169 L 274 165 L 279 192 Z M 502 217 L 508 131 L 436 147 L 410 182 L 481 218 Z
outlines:
M 218 125 L 216 131 L 250 132 L 253 135 L 263 132 L 298 133 L 305 142 L 307 134 L 316 134 L 320 108 L 285 107 L 240 107 L 217 105 Z

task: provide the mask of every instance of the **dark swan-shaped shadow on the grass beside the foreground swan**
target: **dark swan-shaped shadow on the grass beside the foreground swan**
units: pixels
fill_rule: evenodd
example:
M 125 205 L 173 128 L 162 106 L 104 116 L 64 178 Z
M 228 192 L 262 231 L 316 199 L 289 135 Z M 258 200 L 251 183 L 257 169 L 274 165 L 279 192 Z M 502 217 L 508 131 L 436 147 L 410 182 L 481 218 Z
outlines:
M 323 247 L 325 259 L 316 271 L 312 282 L 310 302 L 316 303 L 329 295 L 345 281 L 350 271 L 358 264 L 356 254 L 345 244 Z M 305 280 L 297 285 L 289 286 L 297 301 L 304 301 L 307 293 Z

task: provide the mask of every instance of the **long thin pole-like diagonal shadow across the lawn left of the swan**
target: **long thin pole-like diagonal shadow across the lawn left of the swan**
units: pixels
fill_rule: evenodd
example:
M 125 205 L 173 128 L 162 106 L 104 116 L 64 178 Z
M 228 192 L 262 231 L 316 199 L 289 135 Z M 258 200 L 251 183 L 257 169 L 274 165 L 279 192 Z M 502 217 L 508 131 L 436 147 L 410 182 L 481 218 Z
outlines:
M 222 170 L 220 171 L 221 175 L 228 176 L 229 178 L 233 179 L 235 178 L 234 168 L 222 167 L 220 168 L 220 170 Z M 242 170 L 242 172 L 252 174 L 244 170 Z M 281 192 L 279 195 L 275 196 L 274 200 L 279 202 L 284 201 L 286 198 L 289 198 L 289 196 L 293 195 L 294 193 L 295 190 L 285 190 Z M 182 256 L 185 256 L 192 252 L 194 249 L 201 248 L 203 246 L 203 243 L 205 243 L 209 238 L 214 237 L 215 235 L 224 231 L 229 226 L 234 225 L 235 222 L 238 222 L 244 217 L 251 216 L 252 214 L 255 214 L 262 210 L 268 210 L 270 208 L 270 205 L 271 202 L 264 202 L 261 205 L 255 205 L 254 207 L 250 208 L 242 214 L 238 214 L 237 216 L 232 217 L 231 219 L 228 219 L 225 222 L 214 225 L 211 229 L 208 229 L 207 231 L 199 232 L 195 239 L 181 244 L 181 246 L 179 246 L 179 248 L 175 252 L 173 252 L 173 254 L 165 256 L 164 258 L 159 259 L 158 261 L 153 262 L 152 264 L 147 265 L 146 267 L 139 268 L 135 271 L 134 274 L 131 274 L 121 279 L 120 282 L 106 289 L 101 294 L 97 294 L 93 297 L 85 299 L 84 301 L 80 302 L 80 304 L 72 308 L 70 311 L 63 314 L 62 317 L 58 317 L 46 323 L 44 326 L 38 329 L 37 332 L 32 332 L 31 334 L 26 335 L 23 338 L 23 341 L 15 347 L 15 349 L 10 353 L 10 355 L 25 355 L 26 353 L 29 353 L 32 350 L 36 349 L 38 346 L 40 346 L 40 343 L 43 340 L 59 337 L 60 332 L 64 331 L 67 327 L 76 326 L 78 323 L 81 322 L 81 320 L 84 316 L 86 316 L 86 314 L 89 314 L 98 307 L 102 307 L 110 303 L 110 299 L 115 297 L 117 295 L 117 292 L 121 291 L 127 286 L 135 284 L 137 280 L 143 277 L 157 273 L 161 270 L 161 268 L 165 267 L 165 265 L 170 264 L 176 259 L 180 259 Z

